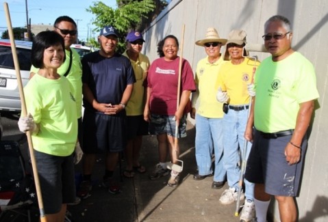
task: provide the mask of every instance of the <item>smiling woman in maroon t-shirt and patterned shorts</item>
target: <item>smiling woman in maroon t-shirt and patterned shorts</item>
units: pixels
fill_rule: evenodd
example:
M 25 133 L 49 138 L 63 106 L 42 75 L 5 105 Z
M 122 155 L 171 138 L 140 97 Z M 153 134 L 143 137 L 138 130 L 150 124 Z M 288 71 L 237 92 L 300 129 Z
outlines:
M 177 87 L 179 77 L 179 57 L 177 51 L 179 42 L 175 36 L 166 36 L 158 43 L 157 53 L 160 58 L 155 59 L 149 67 L 147 82 L 147 101 L 144 107 L 144 120 L 149 122 L 149 133 L 157 135 L 160 163 L 149 176 L 156 180 L 168 175 L 166 166 L 167 154 L 172 163 L 179 158 L 179 145 L 175 147 L 175 136 L 186 137 L 186 117 L 191 106 L 189 96 L 196 88 L 194 74 L 186 59 L 181 64 L 180 102 L 177 107 Z M 175 133 L 175 125 L 178 132 Z M 179 172 L 172 170 L 168 186 L 177 186 Z

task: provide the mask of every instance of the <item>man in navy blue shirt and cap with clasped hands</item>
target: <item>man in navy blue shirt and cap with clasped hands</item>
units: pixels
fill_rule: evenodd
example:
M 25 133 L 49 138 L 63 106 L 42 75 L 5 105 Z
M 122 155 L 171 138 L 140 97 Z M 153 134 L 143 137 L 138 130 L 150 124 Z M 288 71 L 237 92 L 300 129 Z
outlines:
M 84 102 L 83 181 L 77 193 L 86 198 L 92 189 L 91 174 L 97 153 L 105 153 L 102 185 L 112 194 L 121 193 L 113 179 L 118 153 L 126 147 L 125 105 L 136 82 L 127 57 L 115 52 L 118 34 L 112 26 L 101 29 L 100 51 L 82 59 Z

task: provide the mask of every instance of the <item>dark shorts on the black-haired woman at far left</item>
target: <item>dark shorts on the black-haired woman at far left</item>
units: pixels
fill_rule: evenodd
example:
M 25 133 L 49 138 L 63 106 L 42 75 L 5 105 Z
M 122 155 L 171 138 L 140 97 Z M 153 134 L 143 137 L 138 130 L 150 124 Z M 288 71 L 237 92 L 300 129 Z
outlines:
M 75 202 L 73 154 L 53 156 L 34 150 L 45 214 L 60 212 L 62 204 Z

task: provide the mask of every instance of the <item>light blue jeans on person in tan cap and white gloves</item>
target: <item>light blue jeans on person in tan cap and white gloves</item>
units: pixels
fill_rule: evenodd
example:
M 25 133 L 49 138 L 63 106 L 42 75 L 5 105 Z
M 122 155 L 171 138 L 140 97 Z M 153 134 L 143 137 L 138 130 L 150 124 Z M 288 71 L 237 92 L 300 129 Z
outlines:
M 224 141 L 224 155 L 223 165 L 227 170 L 227 180 L 229 187 L 234 187 L 238 191 L 238 182 L 240 180 L 240 167 L 238 163 L 242 163 L 241 156 L 244 154 L 244 132 L 247 125 L 248 109 L 241 111 L 234 111 L 229 109 L 228 113 L 223 117 L 223 141 Z M 241 154 L 239 153 L 239 148 Z M 251 152 L 251 142 L 247 143 L 247 153 L 244 163 L 246 164 Z M 240 156 L 241 155 L 241 156 Z M 245 196 L 247 199 L 254 199 L 254 184 L 244 180 Z

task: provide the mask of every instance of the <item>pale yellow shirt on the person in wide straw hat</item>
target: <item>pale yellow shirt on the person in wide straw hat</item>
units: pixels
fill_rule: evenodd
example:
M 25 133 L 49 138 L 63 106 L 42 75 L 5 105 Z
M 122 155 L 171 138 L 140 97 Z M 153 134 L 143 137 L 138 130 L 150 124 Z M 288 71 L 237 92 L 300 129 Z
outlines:
M 210 64 L 208 57 L 201 59 L 197 64 L 195 84 L 199 90 L 199 107 L 197 114 L 207 118 L 222 118 L 223 104 L 216 100 L 216 92 L 218 91 L 218 71 L 225 64 L 221 56 L 214 64 Z

